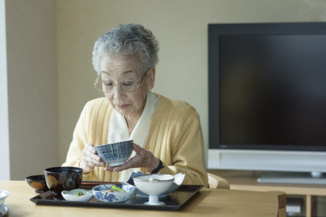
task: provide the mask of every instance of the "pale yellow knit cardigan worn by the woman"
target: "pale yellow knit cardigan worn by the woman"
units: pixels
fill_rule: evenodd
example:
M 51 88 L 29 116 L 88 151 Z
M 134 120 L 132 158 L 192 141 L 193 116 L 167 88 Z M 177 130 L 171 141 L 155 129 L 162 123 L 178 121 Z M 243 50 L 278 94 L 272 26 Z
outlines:
M 150 123 L 145 149 L 159 158 L 164 168 L 161 174 L 184 173 L 183 184 L 207 186 L 204 142 L 200 118 L 189 104 L 170 100 L 161 95 Z M 105 98 L 89 101 L 77 121 L 66 162 L 62 166 L 76 166 L 82 158 L 86 143 L 107 144 L 108 124 L 113 107 Z M 143 173 L 148 173 L 141 168 Z M 120 172 L 95 167 L 83 180 L 118 181 Z

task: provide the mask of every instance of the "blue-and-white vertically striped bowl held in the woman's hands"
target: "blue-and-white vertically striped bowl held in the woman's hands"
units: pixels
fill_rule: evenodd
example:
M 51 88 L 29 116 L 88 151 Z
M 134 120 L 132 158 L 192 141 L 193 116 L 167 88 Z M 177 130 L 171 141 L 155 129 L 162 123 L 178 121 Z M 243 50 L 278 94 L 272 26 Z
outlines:
M 108 166 L 114 167 L 125 164 L 132 152 L 133 140 L 94 146 L 98 156 Z

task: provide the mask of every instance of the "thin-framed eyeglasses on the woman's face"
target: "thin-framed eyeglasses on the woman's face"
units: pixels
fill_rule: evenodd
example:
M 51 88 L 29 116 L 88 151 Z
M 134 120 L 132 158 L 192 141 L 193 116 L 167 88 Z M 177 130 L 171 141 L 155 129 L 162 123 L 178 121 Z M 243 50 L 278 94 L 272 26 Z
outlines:
M 101 91 L 101 92 L 112 92 L 115 90 L 116 86 L 120 86 L 120 88 L 123 91 L 132 92 L 139 88 L 139 86 L 141 85 L 141 82 L 143 81 L 144 77 L 146 76 L 146 73 L 139 81 L 122 80 L 122 81 L 119 81 L 119 83 L 113 83 L 112 81 L 102 80 L 102 76 L 101 76 L 102 73 L 100 73 L 94 82 L 94 86 L 98 91 Z

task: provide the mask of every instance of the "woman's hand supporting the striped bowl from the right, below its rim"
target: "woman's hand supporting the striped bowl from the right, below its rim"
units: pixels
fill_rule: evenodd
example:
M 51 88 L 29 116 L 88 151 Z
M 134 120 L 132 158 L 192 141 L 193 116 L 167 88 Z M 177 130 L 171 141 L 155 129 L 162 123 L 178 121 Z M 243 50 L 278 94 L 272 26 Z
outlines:
M 132 144 L 132 149 L 136 152 L 136 155 L 133 158 L 127 160 L 126 164 L 117 167 L 104 167 L 104 170 L 119 172 L 129 168 L 143 167 L 148 171 L 152 171 L 158 166 L 159 160 L 155 158 L 152 152 L 134 143 Z

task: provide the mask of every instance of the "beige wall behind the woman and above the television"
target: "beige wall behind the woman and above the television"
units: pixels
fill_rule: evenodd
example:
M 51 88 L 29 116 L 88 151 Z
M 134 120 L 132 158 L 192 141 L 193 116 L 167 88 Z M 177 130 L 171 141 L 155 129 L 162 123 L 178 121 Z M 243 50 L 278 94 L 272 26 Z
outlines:
M 57 1 L 60 163 L 93 87 L 95 40 L 119 23 L 141 23 L 160 43 L 154 91 L 186 101 L 200 114 L 208 145 L 207 24 L 326 21 L 323 0 Z

